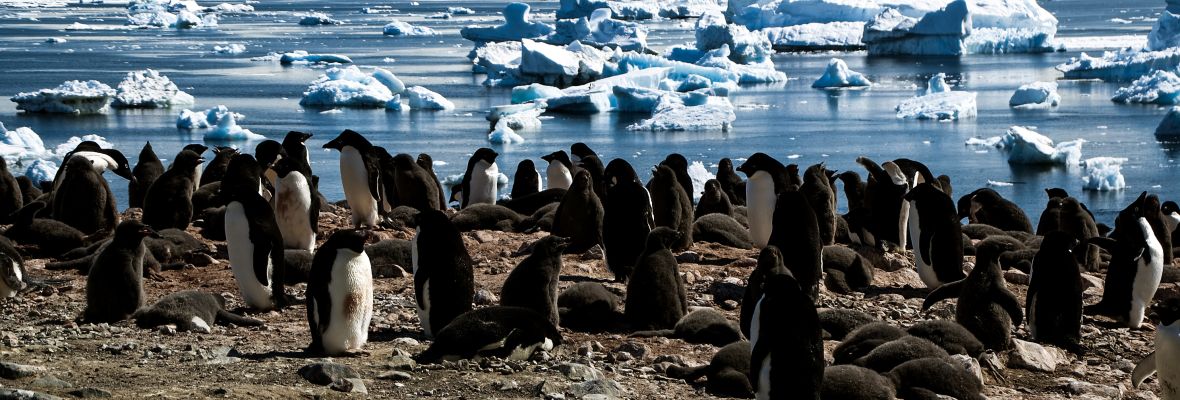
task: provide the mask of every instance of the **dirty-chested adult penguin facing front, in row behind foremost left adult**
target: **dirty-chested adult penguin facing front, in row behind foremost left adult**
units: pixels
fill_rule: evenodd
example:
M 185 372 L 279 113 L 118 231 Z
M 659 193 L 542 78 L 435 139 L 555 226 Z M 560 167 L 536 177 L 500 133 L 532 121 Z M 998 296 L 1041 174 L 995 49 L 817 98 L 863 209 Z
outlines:
M 320 231 L 320 206 L 312 179 L 296 170 L 290 157 L 275 163 L 275 221 L 283 236 L 284 249 L 313 250 Z

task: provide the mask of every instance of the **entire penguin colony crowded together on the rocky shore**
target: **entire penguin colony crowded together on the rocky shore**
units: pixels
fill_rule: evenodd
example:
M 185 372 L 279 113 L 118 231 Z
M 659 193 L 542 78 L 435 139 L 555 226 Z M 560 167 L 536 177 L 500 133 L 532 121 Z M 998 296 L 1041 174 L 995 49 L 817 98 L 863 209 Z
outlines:
M 130 319 L 143 328 L 209 333 L 268 317 L 243 312 L 302 304 L 309 354 L 356 355 L 366 354 L 371 321 L 381 313 L 374 278 L 411 276 L 421 337 L 430 340 L 418 362 L 527 360 L 560 346 L 563 332 L 667 336 L 719 348 L 708 365 L 671 366 L 668 376 L 704 379 L 714 395 L 756 399 L 983 399 L 983 381 L 957 356 L 1008 352 L 1021 340 L 1086 354 L 1083 319 L 1104 319 L 1114 328 L 1154 326 L 1155 352 L 1132 383 L 1154 374 L 1162 398 L 1180 399 L 1180 300 L 1155 299 L 1161 282 L 1180 275 L 1172 260 L 1180 209 L 1147 192 L 1108 228 L 1077 198 L 1048 189 L 1034 230 L 995 190 L 956 199 L 949 177 L 911 159 L 859 157 L 863 179 L 825 164 L 800 173 L 760 152 L 736 166 L 721 159 L 694 205 L 683 156 L 669 155 L 643 182 L 627 160 L 604 164 L 578 143 L 540 157 L 544 175 L 533 160 L 520 162 L 507 196 L 498 191 L 498 153 L 479 149 L 447 197 L 428 155 L 393 155 L 346 130 L 322 146 L 339 152 L 341 212 L 350 227 L 323 230 L 320 212 L 334 205 L 312 171 L 312 137 L 290 132 L 253 155 L 211 149 L 203 169 L 210 151 L 203 145 L 185 146 L 165 166 L 146 143 L 132 169 L 119 151 L 84 142 L 53 182 L 39 184 L 14 178 L 0 160 L 0 217 L 11 223 L 0 237 L 0 300 L 51 284 L 31 278 L 24 260 L 52 257 L 58 262 L 47 269 L 86 274 L 85 322 Z M 120 221 L 105 171 L 129 181 L 140 219 Z M 227 299 L 196 290 L 149 306 L 145 277 L 211 258 L 190 224 L 224 242 L 221 257 L 238 287 L 232 302 L 243 309 L 230 312 Z M 474 268 L 484 261 L 467 250 L 470 230 L 549 232 L 504 250 L 523 258 L 498 304 L 473 306 Z M 381 231 L 408 240 L 379 241 Z M 727 297 L 740 307 L 738 321 L 689 302 L 680 257 L 703 243 L 756 258 L 736 281 L 743 288 L 729 283 L 740 289 Z M 614 282 L 559 290 L 569 268 L 563 255 L 601 262 Z M 872 291 L 874 271 L 892 271 L 885 260 L 911 255 L 925 286 L 914 289 L 925 296 L 923 309 L 955 300 L 944 313 L 950 319 L 903 327 L 821 307 L 821 293 Z M 1102 271 L 1101 301 L 1083 304 L 1093 286 L 1083 273 Z M 1024 299 L 1008 287 L 1014 274 L 1025 276 Z M 721 296 L 714 293 L 719 303 Z M 825 340 L 838 341 L 831 356 Z

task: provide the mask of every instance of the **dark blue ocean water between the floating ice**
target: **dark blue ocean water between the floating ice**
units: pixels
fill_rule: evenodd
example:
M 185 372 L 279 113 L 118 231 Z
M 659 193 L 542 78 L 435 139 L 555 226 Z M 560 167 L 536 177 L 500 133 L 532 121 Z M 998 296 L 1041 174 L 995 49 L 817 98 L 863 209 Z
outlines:
M 202 2 L 203 5 L 206 2 Z M 211 4 L 211 2 L 209 2 Z M 1102 222 L 1133 201 L 1140 191 L 1162 198 L 1180 197 L 1174 184 L 1180 176 L 1180 146 L 1156 143 L 1155 126 L 1166 113 L 1154 105 L 1122 105 L 1109 100 L 1119 84 L 1061 80 L 1061 106 L 1051 110 L 1017 111 L 1008 98 L 1021 84 L 1055 80 L 1054 66 L 1080 51 L 1143 37 L 1163 9 L 1163 1 L 1057 0 L 1043 2 L 1058 20 L 1058 35 L 1083 47 L 1049 54 L 968 55 L 962 58 L 870 58 L 852 53 L 780 53 L 776 67 L 791 80 L 782 84 L 743 86 L 732 93 L 738 120 L 728 132 L 637 133 L 624 127 L 642 114 L 550 114 L 536 132 L 523 132 L 526 142 L 490 145 L 484 116 L 493 105 L 507 104 L 510 91 L 480 85 L 471 73 L 466 54 L 471 42 L 459 38 L 466 25 L 498 24 L 505 2 L 471 1 L 463 6 L 476 15 L 450 20 L 426 17 L 455 1 L 263 1 L 256 12 L 222 15 L 216 28 L 190 31 L 130 29 L 124 6 L 71 6 L 66 8 L 0 8 L 0 122 L 9 129 L 28 126 L 52 147 L 71 136 L 97 133 L 113 143 L 135 163 L 144 142 L 171 158 L 182 146 L 202 142 L 202 132 L 177 130 L 178 110 L 111 111 L 104 116 L 26 114 L 6 99 L 12 94 L 54 87 L 68 79 L 98 79 L 112 87 L 129 71 L 155 68 L 195 96 L 196 110 L 227 105 L 245 114 L 238 123 L 256 133 L 282 139 L 290 130 L 312 132 L 312 166 L 321 177 L 321 191 L 330 199 L 343 197 L 337 173 L 337 153 L 320 146 L 345 129 L 365 133 L 391 152 L 427 152 L 438 162 L 440 177 L 461 173 L 467 157 L 478 147 L 500 152 L 500 170 L 509 176 L 516 164 L 539 157 L 575 142 L 585 142 L 604 159 L 625 158 L 641 175 L 669 152 L 701 160 L 710 170 L 722 157 L 743 158 L 767 152 L 784 163 L 826 163 L 831 169 L 852 169 L 864 175 L 858 156 L 878 162 L 905 157 L 920 160 L 936 173 L 952 177 L 956 197 L 989 181 L 1010 183 L 997 191 L 1021 204 L 1032 217 L 1044 206 L 1045 188 L 1064 188 L 1086 202 Z M 363 7 L 389 6 L 396 12 L 365 14 Z M 532 2 L 536 19 L 551 20 L 556 1 Z M 346 25 L 299 26 L 299 14 L 326 12 Z M 381 26 L 392 18 L 425 25 L 438 37 L 388 38 Z M 107 29 L 64 31 L 83 22 Z M 1129 24 L 1127 24 L 1129 22 Z M 693 21 L 647 22 L 649 42 L 657 50 L 693 40 Z M 64 44 L 45 44 L 50 37 Z M 1121 41 L 1120 41 L 1121 40 Z M 244 44 L 243 54 L 214 54 L 215 45 Z M 422 85 L 454 101 L 446 112 L 323 110 L 299 105 L 308 83 L 323 73 L 322 66 L 280 66 L 251 61 L 268 52 L 306 50 L 349 55 L 359 66 L 380 66 L 407 85 Z M 832 57 L 840 57 L 854 71 L 877 83 L 871 90 L 827 92 L 811 88 Z M 935 73 L 946 73 L 955 90 L 978 93 L 977 118 L 958 122 L 897 119 L 894 106 L 925 88 Z M 1088 140 L 1083 158 L 1127 157 L 1123 165 L 1128 189 L 1116 192 L 1083 192 L 1081 169 L 1009 165 L 995 149 L 965 146 L 968 138 L 998 136 L 1011 125 L 1035 126 L 1055 139 Z M 236 143 L 253 151 L 253 143 Z M 209 156 L 209 155 L 206 155 Z M 210 156 L 211 157 L 211 156 Z M 166 163 L 166 160 L 165 160 Z M 116 195 L 125 205 L 126 182 L 107 173 Z M 843 199 L 841 199 L 843 203 Z

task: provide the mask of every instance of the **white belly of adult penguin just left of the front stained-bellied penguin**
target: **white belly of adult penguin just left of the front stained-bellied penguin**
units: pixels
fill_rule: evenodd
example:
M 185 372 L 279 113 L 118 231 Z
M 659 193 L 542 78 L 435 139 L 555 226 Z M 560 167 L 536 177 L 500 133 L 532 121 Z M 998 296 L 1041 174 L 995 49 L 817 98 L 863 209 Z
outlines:
M 250 224 L 247 221 L 245 209 L 242 203 L 230 202 L 225 205 L 225 248 L 229 253 L 229 265 L 234 271 L 234 280 L 237 281 L 237 289 L 242 294 L 242 301 L 256 310 L 269 310 L 274 308 L 270 297 L 270 284 L 258 283 L 254 273 L 254 242 L 250 241 Z M 270 257 L 267 257 L 267 281 L 271 274 Z

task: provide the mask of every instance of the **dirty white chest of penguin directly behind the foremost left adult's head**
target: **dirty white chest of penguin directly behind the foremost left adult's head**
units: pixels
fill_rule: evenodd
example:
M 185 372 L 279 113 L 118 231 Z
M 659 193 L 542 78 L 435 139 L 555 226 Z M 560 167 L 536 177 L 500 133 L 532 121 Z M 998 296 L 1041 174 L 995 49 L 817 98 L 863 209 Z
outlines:
M 312 250 L 315 232 L 312 231 L 312 188 L 307 177 L 289 172 L 275 185 L 275 219 L 283 234 L 283 248 Z

